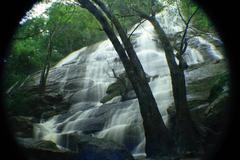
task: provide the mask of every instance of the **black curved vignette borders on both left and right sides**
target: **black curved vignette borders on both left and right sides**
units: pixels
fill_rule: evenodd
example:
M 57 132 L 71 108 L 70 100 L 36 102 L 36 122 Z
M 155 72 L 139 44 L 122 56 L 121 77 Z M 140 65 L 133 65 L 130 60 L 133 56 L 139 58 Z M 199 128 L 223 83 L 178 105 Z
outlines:
M 226 56 L 229 61 L 229 68 L 231 72 L 231 108 L 228 110 L 230 119 L 226 122 L 226 134 L 219 142 L 219 148 L 216 152 L 207 159 L 236 159 L 238 155 L 237 147 L 239 145 L 239 131 L 237 124 L 238 120 L 238 106 L 237 106 L 237 71 L 238 71 L 238 50 L 237 38 L 238 21 L 237 15 L 237 1 L 219 1 L 219 0 L 195 0 L 207 12 L 210 19 L 216 26 L 221 39 L 224 41 Z M 11 0 L 3 1 L 0 4 L 0 80 L 2 71 L 4 69 L 3 60 L 6 58 L 6 53 L 11 41 L 11 36 L 14 34 L 15 28 L 20 19 L 25 15 L 32 5 L 37 0 Z M 17 147 L 12 133 L 8 128 L 6 122 L 6 115 L 4 114 L 3 106 L 3 87 L 0 81 L 0 137 L 1 149 L 0 158 L 3 159 L 24 159 L 19 148 Z

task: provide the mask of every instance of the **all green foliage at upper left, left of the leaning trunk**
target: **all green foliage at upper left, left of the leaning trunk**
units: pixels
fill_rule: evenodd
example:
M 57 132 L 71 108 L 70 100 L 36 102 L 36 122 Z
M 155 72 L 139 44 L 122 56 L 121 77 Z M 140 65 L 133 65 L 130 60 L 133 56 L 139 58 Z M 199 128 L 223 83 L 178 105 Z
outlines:
M 45 13 L 20 24 L 5 60 L 4 86 L 43 68 L 52 34 L 51 66 L 79 48 L 100 41 L 104 32 L 95 18 L 79 6 L 54 3 Z

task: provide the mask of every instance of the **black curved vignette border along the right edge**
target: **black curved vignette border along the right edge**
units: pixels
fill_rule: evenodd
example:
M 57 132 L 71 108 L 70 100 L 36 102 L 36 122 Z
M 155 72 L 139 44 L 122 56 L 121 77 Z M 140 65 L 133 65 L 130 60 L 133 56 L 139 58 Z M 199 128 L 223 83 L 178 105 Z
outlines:
M 239 143 L 239 111 L 237 103 L 238 95 L 238 9 L 237 3 L 233 1 L 218 0 L 195 0 L 208 14 L 214 23 L 217 32 L 224 42 L 228 67 L 231 75 L 230 82 L 230 107 L 227 109 L 229 119 L 223 124 L 225 134 L 219 140 L 216 151 L 206 157 L 207 160 L 230 160 L 236 159 L 238 151 L 235 146 Z

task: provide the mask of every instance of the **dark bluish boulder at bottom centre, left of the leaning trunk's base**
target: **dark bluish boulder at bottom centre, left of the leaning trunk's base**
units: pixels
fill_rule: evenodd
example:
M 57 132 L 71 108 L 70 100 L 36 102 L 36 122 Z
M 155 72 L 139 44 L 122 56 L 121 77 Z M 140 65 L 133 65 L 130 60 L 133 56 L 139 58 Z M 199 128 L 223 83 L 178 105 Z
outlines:
M 79 134 L 63 136 L 61 145 L 77 152 L 77 160 L 134 160 L 124 146 L 112 141 Z

